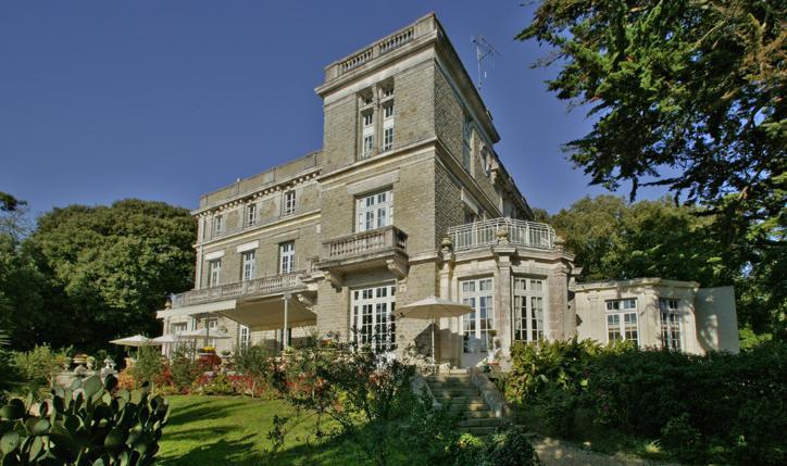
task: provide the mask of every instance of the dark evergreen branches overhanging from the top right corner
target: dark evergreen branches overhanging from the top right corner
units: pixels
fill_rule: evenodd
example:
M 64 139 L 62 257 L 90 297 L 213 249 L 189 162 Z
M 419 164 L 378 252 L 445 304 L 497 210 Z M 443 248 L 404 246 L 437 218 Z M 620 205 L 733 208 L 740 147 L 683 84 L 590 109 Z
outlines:
M 588 109 L 570 141 L 591 182 L 667 187 L 708 207 L 727 268 L 785 328 L 787 2 L 545 0 L 517 39 L 554 48 L 548 88 Z M 666 175 L 665 175 L 666 173 Z M 749 270 L 749 272 L 746 272 Z M 775 275 L 774 275 L 775 273 Z

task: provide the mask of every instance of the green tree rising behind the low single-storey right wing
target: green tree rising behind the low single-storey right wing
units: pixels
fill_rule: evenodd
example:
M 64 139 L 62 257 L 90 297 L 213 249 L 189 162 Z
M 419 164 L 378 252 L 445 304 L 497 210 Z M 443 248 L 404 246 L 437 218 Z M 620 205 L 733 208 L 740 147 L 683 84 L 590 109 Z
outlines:
M 584 198 L 550 218 L 583 267 L 582 279 L 661 277 L 730 285 L 738 267 L 723 264 L 721 243 L 707 234 L 712 217 L 669 198 L 633 204 Z

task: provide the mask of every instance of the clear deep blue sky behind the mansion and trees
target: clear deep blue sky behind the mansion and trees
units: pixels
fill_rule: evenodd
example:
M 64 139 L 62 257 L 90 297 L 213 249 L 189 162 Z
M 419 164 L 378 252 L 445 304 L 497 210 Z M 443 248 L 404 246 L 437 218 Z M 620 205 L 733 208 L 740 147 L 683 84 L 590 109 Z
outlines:
M 530 17 L 521 3 L 2 2 L 0 191 L 35 214 L 123 198 L 193 209 L 318 149 L 323 67 L 434 11 L 474 78 L 472 36 L 502 53 L 482 92 L 496 149 L 529 203 L 555 213 L 604 191 L 560 150 L 590 123 L 546 91 L 554 70 L 528 66 L 546 50 L 513 40 Z

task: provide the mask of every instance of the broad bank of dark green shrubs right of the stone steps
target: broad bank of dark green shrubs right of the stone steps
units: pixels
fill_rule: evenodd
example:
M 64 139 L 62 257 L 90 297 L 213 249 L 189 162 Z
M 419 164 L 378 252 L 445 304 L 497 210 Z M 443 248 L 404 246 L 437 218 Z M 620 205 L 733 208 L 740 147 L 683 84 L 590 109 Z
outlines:
M 541 342 L 512 355 L 507 395 L 557 433 L 571 431 L 578 408 L 611 431 L 661 438 L 685 461 L 787 463 L 787 343 L 690 355 Z

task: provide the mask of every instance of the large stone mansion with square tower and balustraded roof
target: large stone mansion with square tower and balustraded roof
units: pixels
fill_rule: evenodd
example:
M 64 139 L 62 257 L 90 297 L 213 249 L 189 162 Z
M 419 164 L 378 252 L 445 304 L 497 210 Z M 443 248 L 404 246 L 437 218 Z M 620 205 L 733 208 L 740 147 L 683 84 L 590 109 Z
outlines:
M 455 367 L 576 335 L 737 350 L 732 288 L 576 282 L 434 14 L 329 64 L 316 92 L 320 151 L 201 197 L 195 289 L 158 313 L 164 333 L 215 329 L 220 351 L 330 336 L 396 354 L 429 338 L 396 306 L 436 295 L 474 310 L 437 323 L 438 363 Z

